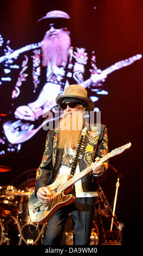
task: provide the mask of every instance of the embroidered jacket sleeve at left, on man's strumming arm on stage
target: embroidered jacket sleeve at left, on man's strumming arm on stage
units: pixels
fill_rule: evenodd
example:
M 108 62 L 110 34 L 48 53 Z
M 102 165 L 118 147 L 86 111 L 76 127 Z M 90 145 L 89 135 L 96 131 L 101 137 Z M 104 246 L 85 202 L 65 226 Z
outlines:
M 35 193 L 37 192 L 38 188 L 47 186 L 47 181 L 49 180 L 51 170 L 53 169 L 52 148 L 53 139 L 51 132 L 48 132 L 42 161 L 36 172 Z

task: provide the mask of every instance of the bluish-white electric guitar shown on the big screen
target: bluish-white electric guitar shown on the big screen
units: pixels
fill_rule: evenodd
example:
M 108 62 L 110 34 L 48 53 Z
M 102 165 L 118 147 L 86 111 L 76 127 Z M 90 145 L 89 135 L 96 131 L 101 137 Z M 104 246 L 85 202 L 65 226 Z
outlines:
M 121 60 L 114 65 L 109 66 L 107 69 L 102 70 L 101 74 L 108 75 L 113 71 L 124 68 L 125 66 L 131 65 L 136 60 L 139 60 L 142 57 L 141 54 L 137 54 L 128 59 Z M 92 75 L 88 80 L 81 83 L 81 86 L 87 88 L 91 86 L 91 84 L 99 81 L 99 74 Z M 55 106 L 55 99 L 51 101 L 50 109 Z M 50 111 L 50 109 L 48 109 Z M 39 117 L 39 119 L 42 116 Z M 50 118 L 43 121 L 38 127 L 36 127 L 37 121 L 25 121 L 23 119 L 18 119 L 16 121 L 6 121 L 3 125 L 4 133 L 8 141 L 12 144 L 23 143 L 28 141 L 32 136 L 34 136 L 42 127 L 46 125 L 50 121 L 54 121 L 55 119 Z

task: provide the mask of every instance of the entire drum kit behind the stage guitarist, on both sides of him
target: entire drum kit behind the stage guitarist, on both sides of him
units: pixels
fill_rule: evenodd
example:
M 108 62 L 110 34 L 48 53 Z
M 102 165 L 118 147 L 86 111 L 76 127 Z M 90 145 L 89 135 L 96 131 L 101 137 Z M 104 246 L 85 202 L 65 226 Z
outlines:
M 0 166 L 0 173 L 9 172 L 10 170 L 9 167 Z M 0 186 L 0 245 L 43 245 L 47 223 L 36 227 L 36 223 L 31 222 L 28 214 L 28 200 L 30 194 L 34 192 L 36 169 L 24 172 L 27 178 L 31 172 L 34 178 L 26 179 L 21 185 Z M 107 234 L 105 225 L 106 222 L 109 223 L 112 220 L 113 211 L 100 185 L 98 185 L 98 194 L 90 245 L 105 244 L 105 241 L 108 244 L 108 237 L 111 236 L 111 233 Z M 115 233 L 112 240 L 119 244 L 122 239 L 121 230 L 124 224 L 120 223 L 115 217 L 113 225 L 116 231 L 112 230 L 112 235 Z M 73 229 L 73 221 L 69 215 L 61 245 L 73 245 Z M 108 230 L 107 227 L 106 229 Z

